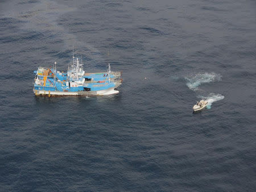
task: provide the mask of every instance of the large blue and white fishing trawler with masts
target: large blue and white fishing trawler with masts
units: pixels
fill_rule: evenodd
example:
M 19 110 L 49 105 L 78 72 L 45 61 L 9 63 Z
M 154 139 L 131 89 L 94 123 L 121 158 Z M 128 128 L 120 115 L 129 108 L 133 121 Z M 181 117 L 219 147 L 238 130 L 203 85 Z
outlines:
M 108 70 L 102 73 L 85 73 L 82 59 L 74 57 L 68 66 L 67 73 L 53 68 L 39 66 L 35 73 L 35 95 L 65 96 L 65 95 L 112 95 L 122 84 L 121 72 L 112 72 L 110 64 Z

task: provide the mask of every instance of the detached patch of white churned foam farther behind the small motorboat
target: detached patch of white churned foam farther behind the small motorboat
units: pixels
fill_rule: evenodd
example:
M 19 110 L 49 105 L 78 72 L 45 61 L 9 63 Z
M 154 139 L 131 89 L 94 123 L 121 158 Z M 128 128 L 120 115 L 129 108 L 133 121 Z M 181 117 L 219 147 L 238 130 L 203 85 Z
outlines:
M 188 81 L 186 85 L 189 89 L 198 90 L 201 84 L 220 81 L 221 75 L 216 73 L 197 73 L 191 77 L 185 77 L 185 80 Z

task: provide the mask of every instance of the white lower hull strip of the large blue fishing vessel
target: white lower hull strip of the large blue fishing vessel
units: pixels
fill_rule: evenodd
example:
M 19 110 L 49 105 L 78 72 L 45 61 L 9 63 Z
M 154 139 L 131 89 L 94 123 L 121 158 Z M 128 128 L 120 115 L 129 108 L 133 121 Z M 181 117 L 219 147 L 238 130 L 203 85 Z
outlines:
M 97 95 L 115 95 L 119 91 L 113 87 L 106 90 L 100 91 L 48 91 L 48 90 L 33 90 L 36 96 L 97 96 Z

